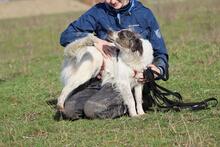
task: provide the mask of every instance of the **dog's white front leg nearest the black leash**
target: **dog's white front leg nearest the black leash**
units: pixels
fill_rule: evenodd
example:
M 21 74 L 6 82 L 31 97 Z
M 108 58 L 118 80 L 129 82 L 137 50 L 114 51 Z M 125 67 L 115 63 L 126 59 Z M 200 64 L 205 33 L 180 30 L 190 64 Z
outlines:
M 142 107 L 142 89 L 143 89 L 142 85 L 138 85 L 138 86 L 134 87 L 134 95 L 135 95 L 138 115 L 144 114 L 144 110 Z

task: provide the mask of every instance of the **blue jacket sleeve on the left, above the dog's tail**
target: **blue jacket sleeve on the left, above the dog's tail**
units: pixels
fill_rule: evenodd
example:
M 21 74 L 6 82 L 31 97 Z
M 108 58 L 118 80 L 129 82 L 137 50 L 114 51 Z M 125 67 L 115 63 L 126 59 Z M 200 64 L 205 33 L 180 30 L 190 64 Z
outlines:
M 96 12 L 97 13 L 97 12 Z M 65 47 L 72 41 L 85 37 L 88 33 L 93 33 L 96 28 L 95 8 L 91 8 L 78 20 L 69 24 L 61 33 L 60 44 Z

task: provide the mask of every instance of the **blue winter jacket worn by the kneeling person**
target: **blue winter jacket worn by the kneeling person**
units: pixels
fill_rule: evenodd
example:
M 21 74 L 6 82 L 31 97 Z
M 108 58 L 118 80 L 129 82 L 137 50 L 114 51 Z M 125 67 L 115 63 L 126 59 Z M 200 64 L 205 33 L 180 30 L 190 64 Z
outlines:
M 115 10 L 105 3 L 98 3 L 72 22 L 61 34 L 60 44 L 66 46 L 70 42 L 95 33 L 105 40 L 109 30 L 119 31 L 132 28 L 143 38 L 148 39 L 154 49 L 154 64 L 160 68 L 163 76 L 168 78 L 168 54 L 160 33 L 159 25 L 152 13 L 141 2 L 130 0 L 120 10 Z

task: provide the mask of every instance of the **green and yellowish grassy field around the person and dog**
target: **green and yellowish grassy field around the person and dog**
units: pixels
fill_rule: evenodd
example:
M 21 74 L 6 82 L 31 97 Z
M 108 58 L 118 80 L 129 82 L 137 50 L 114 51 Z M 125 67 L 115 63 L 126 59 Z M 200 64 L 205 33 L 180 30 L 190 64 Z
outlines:
M 220 101 L 220 1 L 148 1 L 185 101 Z M 59 35 L 82 12 L 0 20 L 0 146 L 220 146 L 220 106 L 142 117 L 55 121 L 61 91 Z

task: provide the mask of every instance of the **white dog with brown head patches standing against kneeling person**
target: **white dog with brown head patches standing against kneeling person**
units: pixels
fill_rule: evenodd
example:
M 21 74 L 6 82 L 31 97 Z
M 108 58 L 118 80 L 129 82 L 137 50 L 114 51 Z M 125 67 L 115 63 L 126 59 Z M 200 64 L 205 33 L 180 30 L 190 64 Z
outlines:
M 149 41 L 140 39 L 130 30 L 109 33 L 109 40 L 119 50 L 112 50 L 111 58 L 104 58 L 94 46 L 97 38 L 88 35 L 70 43 L 64 50 L 64 64 L 61 78 L 64 88 L 58 98 L 58 110 L 63 111 L 69 94 L 102 71 L 102 84 L 115 84 L 128 107 L 130 116 L 144 114 L 142 88 L 135 78 L 153 60 L 153 49 Z M 102 69 L 104 65 L 104 68 Z M 134 89 L 134 96 L 132 93 Z M 135 105 L 136 102 L 136 105 Z

